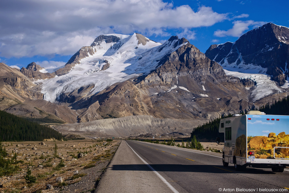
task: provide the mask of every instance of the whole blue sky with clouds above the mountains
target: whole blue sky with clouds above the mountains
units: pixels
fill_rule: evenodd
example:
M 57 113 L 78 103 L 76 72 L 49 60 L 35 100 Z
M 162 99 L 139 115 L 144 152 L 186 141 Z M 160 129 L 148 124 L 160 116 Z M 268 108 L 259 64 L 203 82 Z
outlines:
M 206 50 L 266 23 L 289 27 L 288 0 L 1 0 L 0 62 L 51 69 L 102 34 L 186 38 Z

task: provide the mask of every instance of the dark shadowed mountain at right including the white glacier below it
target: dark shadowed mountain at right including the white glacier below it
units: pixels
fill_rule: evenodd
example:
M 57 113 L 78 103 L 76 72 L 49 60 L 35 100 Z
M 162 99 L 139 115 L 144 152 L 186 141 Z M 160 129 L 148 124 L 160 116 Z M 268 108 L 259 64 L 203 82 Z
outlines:
M 248 31 L 234 43 L 211 45 L 205 54 L 222 65 L 227 75 L 253 80 L 253 100 L 289 88 L 287 27 L 268 23 Z

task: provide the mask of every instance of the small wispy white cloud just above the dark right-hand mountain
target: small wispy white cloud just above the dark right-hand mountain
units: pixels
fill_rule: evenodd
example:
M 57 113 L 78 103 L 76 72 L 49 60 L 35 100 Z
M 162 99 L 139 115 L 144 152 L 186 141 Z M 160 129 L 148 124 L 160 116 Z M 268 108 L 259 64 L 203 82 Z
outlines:
M 244 31 L 249 30 L 249 26 L 258 27 L 261 25 L 266 24 L 263 21 L 234 21 L 233 27 L 227 31 L 225 30 L 217 30 L 214 32 L 214 36 L 217 37 L 225 37 L 225 36 L 233 36 L 233 37 L 240 37 Z

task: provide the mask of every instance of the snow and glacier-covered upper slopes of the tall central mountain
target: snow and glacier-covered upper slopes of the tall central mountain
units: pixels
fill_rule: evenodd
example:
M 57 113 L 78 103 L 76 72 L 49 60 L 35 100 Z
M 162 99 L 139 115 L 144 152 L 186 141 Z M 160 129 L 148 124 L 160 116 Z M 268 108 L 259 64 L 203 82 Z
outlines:
M 168 40 L 162 45 L 138 33 L 101 35 L 73 55 L 64 68 L 55 71 L 63 75 L 35 83 L 42 82 L 44 100 L 51 102 L 57 97 L 59 100 L 62 93 L 88 85 L 94 85 L 87 93 L 92 95 L 117 82 L 148 74 L 166 54 L 187 43 L 175 45 L 177 41 Z

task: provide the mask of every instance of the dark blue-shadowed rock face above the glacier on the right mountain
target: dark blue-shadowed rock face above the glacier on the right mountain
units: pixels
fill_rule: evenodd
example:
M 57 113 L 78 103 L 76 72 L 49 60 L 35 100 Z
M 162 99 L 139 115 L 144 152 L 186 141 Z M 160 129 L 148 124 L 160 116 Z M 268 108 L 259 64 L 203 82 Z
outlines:
M 235 43 L 211 45 L 206 56 L 219 64 L 256 65 L 281 86 L 288 77 L 289 28 L 272 23 L 242 35 Z M 277 57 L 278 56 L 278 57 Z

